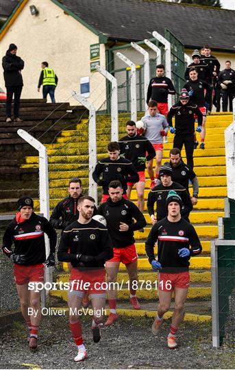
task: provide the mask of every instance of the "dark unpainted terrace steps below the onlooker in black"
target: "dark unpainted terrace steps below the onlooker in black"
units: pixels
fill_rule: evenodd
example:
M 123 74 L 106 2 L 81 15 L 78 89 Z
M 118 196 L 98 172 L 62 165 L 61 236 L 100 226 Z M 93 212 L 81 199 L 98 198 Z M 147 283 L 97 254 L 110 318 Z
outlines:
M 38 169 L 21 167 L 25 156 L 37 156 L 31 147 L 17 134 L 22 128 L 32 136 L 40 137 L 43 144 L 51 143 L 55 135 L 65 127 L 74 129 L 80 117 L 86 114 L 84 107 L 69 103 L 47 103 L 46 99 L 21 99 L 22 123 L 5 123 L 5 101 L 0 103 L 0 212 L 12 213 L 16 200 L 22 195 L 38 197 Z M 86 115 L 85 115 L 86 116 Z

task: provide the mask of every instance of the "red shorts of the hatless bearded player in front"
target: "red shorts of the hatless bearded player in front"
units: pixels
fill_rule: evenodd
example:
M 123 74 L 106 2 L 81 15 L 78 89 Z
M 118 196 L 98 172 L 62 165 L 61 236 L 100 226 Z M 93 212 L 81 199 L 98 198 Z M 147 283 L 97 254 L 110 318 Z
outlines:
M 73 267 L 69 282 L 71 291 L 80 291 L 88 294 L 106 293 L 106 270 L 79 271 Z M 85 283 L 87 284 L 85 285 Z

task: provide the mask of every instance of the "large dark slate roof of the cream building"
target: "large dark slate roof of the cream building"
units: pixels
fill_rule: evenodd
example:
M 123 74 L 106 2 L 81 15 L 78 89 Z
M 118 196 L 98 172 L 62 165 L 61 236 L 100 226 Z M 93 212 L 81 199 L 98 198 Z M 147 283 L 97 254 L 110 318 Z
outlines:
M 235 11 L 157 0 L 60 0 L 109 40 L 129 42 L 164 36 L 169 29 L 184 47 L 210 45 L 235 52 Z

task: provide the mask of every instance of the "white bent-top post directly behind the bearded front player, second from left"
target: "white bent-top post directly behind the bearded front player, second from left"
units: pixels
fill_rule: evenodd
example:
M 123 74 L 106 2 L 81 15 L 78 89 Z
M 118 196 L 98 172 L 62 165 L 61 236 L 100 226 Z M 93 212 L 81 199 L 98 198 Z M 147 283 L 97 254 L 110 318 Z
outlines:
M 88 145 L 89 145 L 89 195 L 95 199 L 97 204 L 97 183 L 92 178 L 92 172 L 97 164 L 97 132 L 95 121 L 95 106 L 82 95 L 72 92 L 72 96 L 89 110 Z

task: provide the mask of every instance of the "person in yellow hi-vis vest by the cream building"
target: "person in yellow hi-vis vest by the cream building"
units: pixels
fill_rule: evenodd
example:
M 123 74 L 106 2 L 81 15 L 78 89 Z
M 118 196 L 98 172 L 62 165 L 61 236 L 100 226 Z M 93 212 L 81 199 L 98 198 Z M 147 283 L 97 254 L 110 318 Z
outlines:
M 55 103 L 55 87 L 58 84 L 58 77 L 55 75 L 53 69 L 48 68 L 47 62 L 42 62 L 42 72 L 38 81 L 38 93 L 42 85 L 42 97 L 47 99 L 47 94 L 50 95 L 51 103 Z

